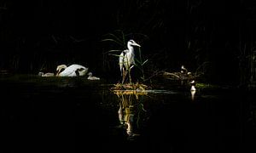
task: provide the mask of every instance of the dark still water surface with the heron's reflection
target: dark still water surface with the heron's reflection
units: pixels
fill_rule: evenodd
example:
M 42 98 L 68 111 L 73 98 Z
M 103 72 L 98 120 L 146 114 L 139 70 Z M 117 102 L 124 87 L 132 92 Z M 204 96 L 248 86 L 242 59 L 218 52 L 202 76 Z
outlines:
M 113 93 L 85 78 L 1 78 L 1 152 L 247 152 L 253 94 L 166 84 Z M 161 86 L 159 86 L 161 87 Z

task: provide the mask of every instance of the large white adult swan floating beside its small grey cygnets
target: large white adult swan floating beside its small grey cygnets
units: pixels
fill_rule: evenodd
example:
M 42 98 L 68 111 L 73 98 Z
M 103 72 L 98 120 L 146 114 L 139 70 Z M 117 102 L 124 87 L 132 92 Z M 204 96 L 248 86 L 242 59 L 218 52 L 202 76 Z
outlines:
M 83 65 L 58 65 L 57 66 L 57 74 L 56 77 L 81 77 L 85 76 L 88 71 L 88 68 Z

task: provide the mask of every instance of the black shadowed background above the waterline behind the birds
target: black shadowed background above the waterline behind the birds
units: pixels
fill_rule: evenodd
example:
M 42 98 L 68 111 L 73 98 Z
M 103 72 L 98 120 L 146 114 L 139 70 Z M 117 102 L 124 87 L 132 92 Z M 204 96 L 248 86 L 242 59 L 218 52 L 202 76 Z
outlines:
M 102 40 L 123 32 L 142 45 L 148 77 L 185 65 L 201 67 L 209 81 L 241 85 L 250 77 L 255 7 L 243 0 L 1 0 L 0 69 L 38 74 L 78 63 L 118 78 L 108 51 L 125 47 Z

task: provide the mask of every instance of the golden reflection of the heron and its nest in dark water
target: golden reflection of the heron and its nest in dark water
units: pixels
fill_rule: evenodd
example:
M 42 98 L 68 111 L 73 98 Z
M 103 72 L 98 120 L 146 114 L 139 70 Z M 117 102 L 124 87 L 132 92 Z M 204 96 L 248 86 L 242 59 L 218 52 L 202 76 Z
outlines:
M 121 91 L 114 92 L 119 97 L 119 123 L 125 127 L 127 139 L 135 139 L 140 134 L 140 127 L 143 123 L 146 111 L 143 108 L 143 95 L 145 92 Z

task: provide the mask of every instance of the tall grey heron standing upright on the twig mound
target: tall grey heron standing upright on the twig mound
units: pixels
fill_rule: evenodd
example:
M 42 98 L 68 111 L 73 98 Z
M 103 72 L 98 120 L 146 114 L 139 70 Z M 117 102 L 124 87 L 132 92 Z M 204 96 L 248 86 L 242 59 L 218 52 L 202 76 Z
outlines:
M 129 40 L 127 42 L 127 49 L 122 51 L 122 53 L 119 55 L 119 68 L 121 71 L 121 76 L 123 77 L 122 82 L 124 82 L 127 71 L 130 71 L 131 68 L 135 65 L 135 60 L 134 60 L 135 54 L 134 54 L 134 48 L 133 48 L 134 46 L 141 47 L 134 40 Z M 125 72 L 125 76 L 124 76 L 124 72 Z

